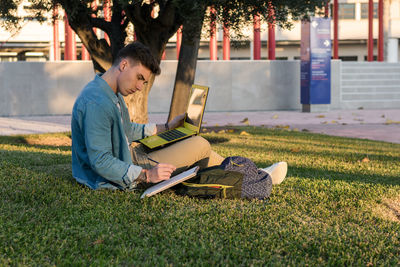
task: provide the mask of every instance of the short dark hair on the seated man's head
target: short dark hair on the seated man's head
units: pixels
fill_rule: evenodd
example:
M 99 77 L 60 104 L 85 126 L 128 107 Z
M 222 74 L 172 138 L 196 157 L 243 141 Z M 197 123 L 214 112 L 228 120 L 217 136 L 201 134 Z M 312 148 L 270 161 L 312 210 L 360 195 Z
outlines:
M 151 54 L 150 49 L 140 42 L 132 42 L 119 50 L 113 66 L 117 66 L 124 58 L 131 59 L 135 63 L 141 63 L 155 75 L 161 73 L 159 63 Z

